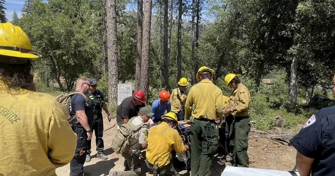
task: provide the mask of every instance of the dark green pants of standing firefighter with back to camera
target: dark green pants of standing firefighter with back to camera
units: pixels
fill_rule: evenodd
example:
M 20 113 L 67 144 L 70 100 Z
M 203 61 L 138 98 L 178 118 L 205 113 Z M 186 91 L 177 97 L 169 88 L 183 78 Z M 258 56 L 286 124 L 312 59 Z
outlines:
M 191 175 L 210 176 L 212 160 L 218 147 L 219 130 L 214 120 L 194 119 L 191 125 Z

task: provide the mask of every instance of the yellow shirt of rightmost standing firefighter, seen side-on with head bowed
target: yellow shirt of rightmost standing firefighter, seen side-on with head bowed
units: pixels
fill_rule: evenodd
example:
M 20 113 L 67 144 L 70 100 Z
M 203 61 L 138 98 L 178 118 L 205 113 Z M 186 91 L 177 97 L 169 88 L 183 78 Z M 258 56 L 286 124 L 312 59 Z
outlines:
M 229 108 L 236 108 L 232 115 L 235 117 L 249 116 L 250 92 L 242 83 L 239 84 L 229 98 Z

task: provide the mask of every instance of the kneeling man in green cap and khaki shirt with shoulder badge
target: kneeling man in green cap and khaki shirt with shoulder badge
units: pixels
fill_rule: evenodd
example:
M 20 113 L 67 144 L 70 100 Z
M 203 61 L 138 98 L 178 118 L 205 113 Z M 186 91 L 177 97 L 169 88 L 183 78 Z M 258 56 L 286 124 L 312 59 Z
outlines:
M 151 116 L 154 114 L 149 108 L 143 107 L 139 111 L 139 116 L 131 118 L 127 124 L 132 126 L 143 125 L 143 127 L 134 133 L 134 137 L 130 141 L 130 147 L 128 153 L 122 153 L 125 158 L 129 171 L 113 171 L 111 170 L 109 176 L 139 176 L 141 174 L 141 160 L 139 155 L 141 149 L 146 149 L 147 137 L 148 137 L 148 126 L 144 125 L 147 123 Z M 134 128 L 133 128 L 134 129 Z

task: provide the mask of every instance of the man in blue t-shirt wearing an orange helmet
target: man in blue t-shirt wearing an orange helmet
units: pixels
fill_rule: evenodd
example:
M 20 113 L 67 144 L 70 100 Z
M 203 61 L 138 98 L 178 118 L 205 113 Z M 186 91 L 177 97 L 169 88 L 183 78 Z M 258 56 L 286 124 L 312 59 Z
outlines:
M 159 99 L 155 100 L 151 106 L 151 112 L 155 114 L 151 117 L 152 121 L 154 123 L 159 122 L 165 110 L 166 112 L 171 111 L 170 94 L 166 91 L 161 91 L 159 93 Z

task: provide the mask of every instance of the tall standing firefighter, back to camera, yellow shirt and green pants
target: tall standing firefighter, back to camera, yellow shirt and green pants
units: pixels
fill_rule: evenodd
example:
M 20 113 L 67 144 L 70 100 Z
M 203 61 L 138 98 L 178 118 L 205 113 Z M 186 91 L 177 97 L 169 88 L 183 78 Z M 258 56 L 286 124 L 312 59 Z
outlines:
M 214 70 L 201 67 L 196 75 L 200 82 L 191 88 L 186 99 L 185 119 L 190 119 L 191 115 L 194 118 L 190 129 L 192 176 L 210 176 L 218 147 L 219 130 L 214 120 L 222 117 L 223 97 L 220 88 L 211 81 L 213 75 Z

